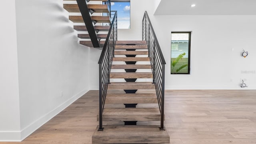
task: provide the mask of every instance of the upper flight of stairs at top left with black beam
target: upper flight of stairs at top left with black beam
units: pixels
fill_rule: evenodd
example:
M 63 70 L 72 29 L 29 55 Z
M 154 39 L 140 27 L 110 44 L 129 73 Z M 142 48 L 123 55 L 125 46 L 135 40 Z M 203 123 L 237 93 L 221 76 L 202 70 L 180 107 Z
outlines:
M 86 1 L 64 0 L 63 8 L 69 12 L 69 20 L 74 22 L 80 44 L 102 48 L 110 29 L 110 0 Z

